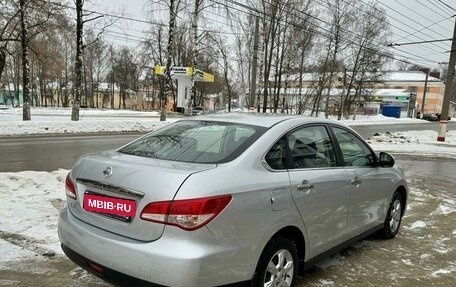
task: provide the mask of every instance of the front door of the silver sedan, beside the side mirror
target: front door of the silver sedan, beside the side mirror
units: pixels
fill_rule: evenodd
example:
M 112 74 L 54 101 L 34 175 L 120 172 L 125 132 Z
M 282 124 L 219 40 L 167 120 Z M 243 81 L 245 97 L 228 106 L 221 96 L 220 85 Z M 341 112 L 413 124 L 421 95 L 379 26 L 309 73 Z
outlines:
M 332 127 L 347 176 L 350 179 L 348 235 L 354 237 L 385 220 L 388 188 L 386 169 L 379 167 L 376 156 L 357 135 L 343 127 Z

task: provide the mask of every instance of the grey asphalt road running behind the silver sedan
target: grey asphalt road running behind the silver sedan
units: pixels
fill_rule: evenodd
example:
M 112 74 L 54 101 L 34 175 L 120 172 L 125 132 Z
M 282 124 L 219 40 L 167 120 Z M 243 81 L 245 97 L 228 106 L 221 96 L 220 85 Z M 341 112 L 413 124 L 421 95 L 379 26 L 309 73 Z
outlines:
M 366 125 L 353 126 L 363 137 L 374 133 L 408 130 L 437 130 L 438 123 Z M 449 130 L 456 129 L 456 122 L 448 124 Z M 22 136 L 0 138 L 0 172 L 23 170 L 53 171 L 70 169 L 74 161 L 83 154 L 118 148 L 141 134 L 117 135 L 59 135 Z

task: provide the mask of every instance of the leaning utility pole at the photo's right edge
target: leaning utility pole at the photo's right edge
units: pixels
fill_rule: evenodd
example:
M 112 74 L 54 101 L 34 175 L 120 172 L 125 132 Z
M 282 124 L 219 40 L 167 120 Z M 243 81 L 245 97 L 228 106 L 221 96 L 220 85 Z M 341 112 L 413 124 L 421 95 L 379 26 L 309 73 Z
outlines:
M 445 82 L 445 94 L 443 96 L 442 112 L 440 113 L 440 123 L 437 135 L 437 141 L 439 142 L 445 141 L 446 128 L 448 124 L 448 109 L 450 108 L 450 99 L 454 80 L 454 66 L 456 64 L 456 17 L 450 51 L 450 61 L 448 64 L 448 73 Z

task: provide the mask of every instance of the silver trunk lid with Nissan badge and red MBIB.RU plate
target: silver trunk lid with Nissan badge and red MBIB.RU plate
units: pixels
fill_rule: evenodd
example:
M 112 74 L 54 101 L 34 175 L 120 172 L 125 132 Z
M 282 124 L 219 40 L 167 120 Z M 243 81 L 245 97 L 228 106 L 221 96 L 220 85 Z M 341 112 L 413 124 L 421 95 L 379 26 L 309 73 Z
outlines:
M 141 241 L 160 238 L 164 225 L 140 219 L 151 202 L 172 200 L 193 173 L 214 168 L 108 151 L 80 158 L 71 171 L 77 201 L 68 207 L 80 220 Z

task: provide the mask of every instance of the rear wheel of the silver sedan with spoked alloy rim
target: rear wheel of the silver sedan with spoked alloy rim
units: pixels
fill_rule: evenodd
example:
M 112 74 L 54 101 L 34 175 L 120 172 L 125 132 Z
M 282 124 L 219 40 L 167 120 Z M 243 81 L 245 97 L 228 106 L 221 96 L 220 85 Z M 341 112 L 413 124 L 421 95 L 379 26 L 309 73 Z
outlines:
M 260 256 L 252 286 L 294 286 L 298 273 L 297 254 L 292 240 L 281 237 L 272 239 Z

